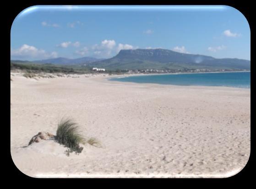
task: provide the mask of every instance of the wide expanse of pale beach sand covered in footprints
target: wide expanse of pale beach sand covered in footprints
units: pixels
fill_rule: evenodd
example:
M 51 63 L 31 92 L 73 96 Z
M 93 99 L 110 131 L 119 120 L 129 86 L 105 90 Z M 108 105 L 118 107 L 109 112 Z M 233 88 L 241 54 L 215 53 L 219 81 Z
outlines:
M 11 156 L 28 176 L 229 177 L 250 156 L 250 89 L 11 74 Z M 65 116 L 104 147 L 69 157 L 54 141 L 24 147 Z

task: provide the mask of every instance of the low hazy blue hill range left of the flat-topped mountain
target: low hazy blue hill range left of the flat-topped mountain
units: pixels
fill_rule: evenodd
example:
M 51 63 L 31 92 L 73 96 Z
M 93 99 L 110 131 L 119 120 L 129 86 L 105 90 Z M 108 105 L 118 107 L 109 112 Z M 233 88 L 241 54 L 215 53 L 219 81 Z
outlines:
M 52 63 L 52 64 L 61 64 L 61 65 L 72 65 L 72 64 L 82 64 L 82 63 L 93 63 L 103 60 L 103 58 L 93 58 L 93 57 L 83 57 L 83 58 L 51 58 L 45 60 L 35 60 L 34 63 Z

